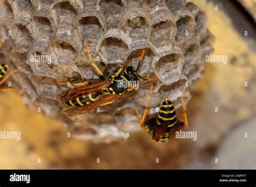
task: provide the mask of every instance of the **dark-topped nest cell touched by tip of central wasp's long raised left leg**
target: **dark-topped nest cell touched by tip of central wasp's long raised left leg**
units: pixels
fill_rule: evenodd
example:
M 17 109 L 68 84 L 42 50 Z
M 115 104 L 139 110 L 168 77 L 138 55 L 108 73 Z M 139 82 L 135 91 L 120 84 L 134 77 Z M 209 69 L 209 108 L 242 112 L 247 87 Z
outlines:
M 104 31 L 98 18 L 95 16 L 88 16 L 80 19 L 76 29 L 79 35 L 83 37 L 83 45 L 86 45 L 86 42 L 89 40 L 95 42 L 96 44 L 100 35 Z

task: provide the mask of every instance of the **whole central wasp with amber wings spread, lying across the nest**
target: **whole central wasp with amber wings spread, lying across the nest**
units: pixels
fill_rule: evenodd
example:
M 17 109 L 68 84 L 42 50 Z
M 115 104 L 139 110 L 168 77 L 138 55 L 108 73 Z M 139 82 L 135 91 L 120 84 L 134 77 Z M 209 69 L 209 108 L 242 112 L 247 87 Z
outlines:
M 62 103 L 73 106 L 72 109 L 64 111 L 66 116 L 76 116 L 99 106 L 113 103 L 119 96 L 126 91 L 134 89 L 130 85 L 131 82 L 141 80 L 154 82 L 157 78 L 144 78 L 138 74 L 140 64 L 145 55 L 145 49 L 142 50 L 137 68 L 127 66 L 127 61 L 122 66 L 112 73 L 109 77 L 104 77 L 104 74 L 97 65 L 93 62 L 90 54 L 90 41 L 87 41 L 86 51 L 90 59 L 91 66 L 94 67 L 102 81 L 97 83 L 90 83 L 85 81 L 83 83 L 70 84 L 75 88 L 69 89 L 61 93 L 57 98 Z M 122 84 L 123 83 L 123 84 Z M 126 84 L 124 84 L 126 83 Z M 66 82 L 58 82 L 60 85 L 68 84 Z M 152 86 L 152 85 L 151 85 Z M 153 87 L 153 86 L 152 86 Z

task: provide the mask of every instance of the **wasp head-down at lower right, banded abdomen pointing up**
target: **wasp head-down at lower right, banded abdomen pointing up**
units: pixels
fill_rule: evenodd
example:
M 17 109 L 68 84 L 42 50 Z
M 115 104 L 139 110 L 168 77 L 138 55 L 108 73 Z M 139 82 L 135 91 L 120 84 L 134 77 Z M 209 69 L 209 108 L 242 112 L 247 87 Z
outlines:
M 186 131 L 188 129 L 186 106 L 191 97 L 189 97 L 184 103 L 184 95 L 186 92 L 186 88 L 187 87 L 185 86 L 181 95 L 182 109 L 180 111 L 183 121 L 180 121 L 177 118 L 176 110 L 174 109 L 174 106 L 168 97 L 166 97 L 164 102 L 160 105 L 160 109 L 157 116 L 147 120 L 145 119 L 147 112 L 149 111 L 149 107 L 146 107 L 146 110 L 142 118 L 140 118 L 138 109 L 134 107 L 134 110 L 136 111 L 140 122 L 140 126 L 143 127 L 144 130 L 152 136 L 152 139 L 164 143 L 169 141 L 169 139 L 175 134 L 175 132 L 179 130 Z

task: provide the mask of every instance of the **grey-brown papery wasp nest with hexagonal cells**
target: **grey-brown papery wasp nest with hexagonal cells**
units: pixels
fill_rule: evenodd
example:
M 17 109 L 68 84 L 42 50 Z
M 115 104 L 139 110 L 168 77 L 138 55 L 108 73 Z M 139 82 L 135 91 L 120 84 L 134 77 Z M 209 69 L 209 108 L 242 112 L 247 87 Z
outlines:
M 76 138 L 110 142 L 139 131 L 132 107 L 144 110 L 150 88 L 142 82 L 98 112 L 64 116 L 67 106 L 56 97 L 68 88 L 56 82 L 99 81 L 86 41 L 105 74 L 127 60 L 136 66 L 146 48 L 139 74 L 159 78 L 151 107 L 169 96 L 176 109 L 184 83 L 201 77 L 204 55 L 212 50 L 205 12 L 185 0 L 2 0 L 0 12 L 1 62 L 21 70 L 11 81 L 26 104 L 60 120 Z

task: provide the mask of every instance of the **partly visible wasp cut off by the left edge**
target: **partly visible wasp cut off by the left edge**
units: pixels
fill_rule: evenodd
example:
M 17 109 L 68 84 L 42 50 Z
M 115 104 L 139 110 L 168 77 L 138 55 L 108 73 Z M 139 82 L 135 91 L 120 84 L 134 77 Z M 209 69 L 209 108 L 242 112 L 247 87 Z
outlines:
M 0 49 L 2 48 L 2 41 L 0 40 Z M 0 91 L 11 91 L 11 90 L 18 90 L 17 88 L 1 88 L 3 83 L 12 75 L 17 73 L 19 70 L 15 69 L 14 71 L 11 71 L 10 73 L 6 74 L 6 71 L 8 70 L 9 66 L 8 64 L 0 64 Z

